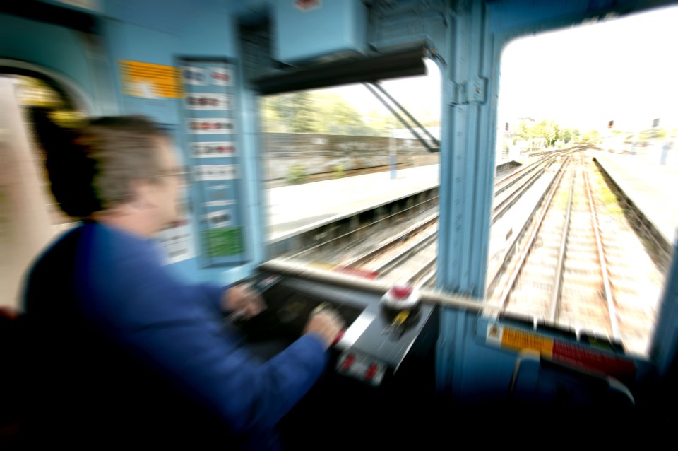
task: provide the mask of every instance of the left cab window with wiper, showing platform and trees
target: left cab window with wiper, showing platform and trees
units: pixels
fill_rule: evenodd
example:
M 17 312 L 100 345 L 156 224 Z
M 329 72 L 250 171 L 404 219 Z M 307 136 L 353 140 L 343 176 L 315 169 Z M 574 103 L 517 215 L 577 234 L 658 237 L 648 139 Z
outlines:
M 427 66 L 379 86 L 261 99 L 270 257 L 434 286 L 439 153 L 429 149 L 439 147 L 441 81 Z

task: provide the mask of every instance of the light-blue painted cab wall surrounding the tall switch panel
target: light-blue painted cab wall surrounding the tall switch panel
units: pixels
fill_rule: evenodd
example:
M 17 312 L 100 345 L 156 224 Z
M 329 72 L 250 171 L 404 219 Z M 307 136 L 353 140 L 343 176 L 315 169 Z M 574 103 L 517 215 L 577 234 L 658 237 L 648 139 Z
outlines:
M 130 6 L 134 13 L 132 23 L 126 21 L 103 18 L 105 35 L 109 43 L 109 55 L 111 61 L 127 59 L 131 61 L 143 61 L 152 64 L 174 66 L 175 57 L 215 57 L 230 58 L 238 61 L 239 45 L 235 35 L 234 16 L 225 4 L 215 4 L 213 7 L 204 7 L 210 2 L 186 6 L 185 3 L 175 2 L 167 5 L 164 10 L 163 2 L 149 2 L 154 5 Z M 200 2 L 198 2 L 200 3 Z M 120 5 L 115 6 L 118 8 Z M 115 13 L 117 18 L 122 12 L 107 10 Z M 158 11 L 163 11 L 162 19 L 157 19 Z M 182 14 L 186 16 L 182 17 Z M 143 24 L 138 25 L 138 24 Z M 180 25 L 179 25 L 180 24 Z M 171 25 L 171 26 L 170 26 Z M 171 32 L 171 33 L 170 33 Z M 141 45 L 143 43 L 143 45 Z M 238 70 L 239 66 L 236 64 Z M 123 94 L 119 69 L 116 64 L 110 67 L 112 76 L 116 82 L 118 98 L 121 102 L 121 112 L 124 114 L 142 114 L 153 117 L 163 124 L 182 124 L 180 119 L 180 107 L 182 100 L 172 98 L 146 99 Z M 237 74 L 238 79 L 242 72 Z M 236 103 L 242 105 L 239 111 L 238 126 L 239 138 L 238 152 L 243 175 L 241 196 L 239 204 L 241 211 L 246 215 L 245 222 L 245 246 L 249 250 L 251 259 L 248 263 L 230 268 L 203 268 L 196 259 L 172 264 L 172 269 L 182 277 L 198 281 L 218 281 L 230 284 L 251 275 L 254 267 L 263 259 L 264 243 L 261 227 L 261 201 L 259 201 L 260 189 L 256 175 L 261 172 L 256 168 L 257 158 L 253 156 L 258 146 L 254 144 L 254 113 L 252 112 L 252 93 L 244 89 L 243 83 L 237 83 Z M 242 100 L 242 103 L 241 103 Z M 241 119 L 242 118 L 242 119 Z M 183 134 L 179 134 L 182 136 Z M 183 139 L 177 139 L 185 155 L 188 143 Z M 191 189 L 192 203 L 198 202 L 198 194 Z M 196 204 L 197 205 L 197 204 Z M 193 221 L 198 221 L 194 212 Z M 196 228 L 193 228 L 195 231 Z M 198 245 L 196 236 L 193 237 L 194 245 Z

